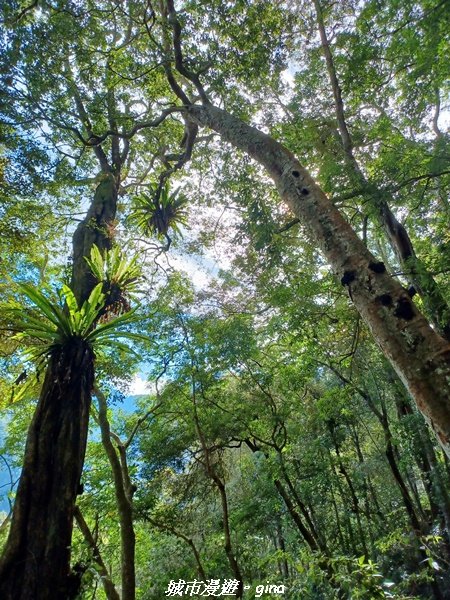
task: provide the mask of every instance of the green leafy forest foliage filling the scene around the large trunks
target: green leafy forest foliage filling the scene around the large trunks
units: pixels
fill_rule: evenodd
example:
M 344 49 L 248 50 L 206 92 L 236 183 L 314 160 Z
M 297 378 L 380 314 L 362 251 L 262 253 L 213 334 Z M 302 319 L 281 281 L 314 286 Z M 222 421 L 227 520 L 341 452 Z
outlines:
M 448 7 L 321 4 L 355 158 L 448 297 Z M 296 153 L 405 283 L 377 206 L 345 159 L 313 5 L 180 5 L 185 65 L 198 70 L 215 103 Z M 208 136 L 199 136 L 175 181 L 184 120 L 174 112 L 148 125 L 175 100 L 157 3 L 83 0 L 64 10 L 39 3 L 16 18 L 23 6 L 2 6 L 10 27 L 0 42 L 0 285 L 8 300 L 17 289 L 11 279 L 35 285 L 20 286 L 20 303 L 0 315 L 2 329 L 16 333 L 0 342 L 0 392 L 9 398 L 14 385 L 20 397 L 22 345 L 42 361 L 75 340 L 96 352 L 97 381 L 126 390 L 136 360 L 125 356 L 124 341 L 139 343 L 140 375 L 154 395 L 128 398 L 121 409 L 112 393 L 108 412 L 111 439 L 137 488 L 129 496 L 138 597 L 160 600 L 170 579 L 199 578 L 189 542 L 207 577 L 232 575 L 217 478 L 232 551 L 252 586 L 283 581 L 292 600 L 428 599 L 433 578 L 448 589 L 448 463 L 316 241 L 249 157 Z M 194 86 L 180 82 L 194 99 Z M 54 297 L 48 283 L 63 280 L 67 231 L 77 227 L 75 213 L 85 212 L 105 160 L 120 181 L 117 221 L 108 229 L 118 239 L 109 252 L 92 246 L 85 260 L 97 285 L 79 306 L 68 286 Z M 173 170 L 159 189 L 152 182 L 164 179 L 161 168 Z M 153 253 L 142 239 L 138 264 L 128 239 L 138 232 L 169 242 L 194 211 L 188 246 L 204 252 L 205 263 L 212 251 L 218 262 L 231 261 L 201 290 L 166 257 L 158 262 L 161 248 Z M 139 315 L 129 310 L 137 295 Z M 14 468 L 32 404 L 7 411 L 1 452 Z M 132 432 L 130 445 L 118 441 Z M 83 481 L 78 503 L 120 587 L 120 511 L 96 424 Z M 405 489 L 422 532 L 411 526 Z M 72 554 L 89 563 L 83 598 L 102 597 L 98 565 L 79 532 Z

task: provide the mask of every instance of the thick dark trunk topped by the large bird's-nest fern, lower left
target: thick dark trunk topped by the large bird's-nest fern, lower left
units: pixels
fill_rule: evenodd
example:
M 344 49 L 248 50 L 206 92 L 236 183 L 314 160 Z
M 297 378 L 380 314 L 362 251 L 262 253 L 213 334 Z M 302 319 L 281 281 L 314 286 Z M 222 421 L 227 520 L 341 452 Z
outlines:
M 85 343 L 51 357 L 0 561 L 2 600 L 75 597 L 79 582 L 70 574 L 70 544 L 93 380 L 93 353 Z

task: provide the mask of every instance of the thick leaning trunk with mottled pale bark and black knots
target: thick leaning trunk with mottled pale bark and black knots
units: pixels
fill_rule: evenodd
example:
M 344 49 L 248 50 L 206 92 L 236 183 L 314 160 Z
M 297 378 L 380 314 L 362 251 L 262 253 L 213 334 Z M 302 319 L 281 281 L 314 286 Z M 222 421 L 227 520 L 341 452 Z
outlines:
M 419 410 L 450 455 L 450 344 L 358 238 L 294 155 L 270 136 L 211 104 L 189 105 L 198 124 L 260 163 L 308 230 Z

